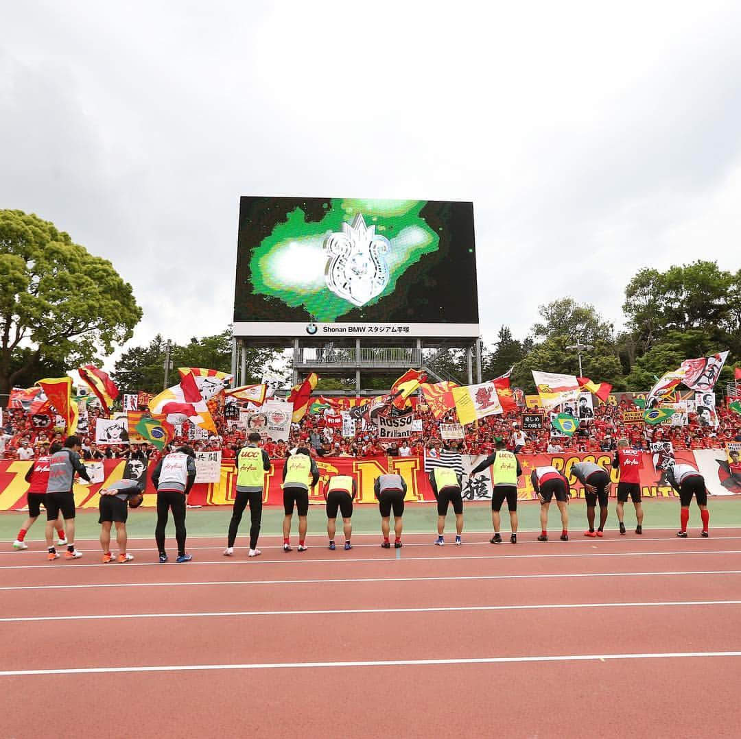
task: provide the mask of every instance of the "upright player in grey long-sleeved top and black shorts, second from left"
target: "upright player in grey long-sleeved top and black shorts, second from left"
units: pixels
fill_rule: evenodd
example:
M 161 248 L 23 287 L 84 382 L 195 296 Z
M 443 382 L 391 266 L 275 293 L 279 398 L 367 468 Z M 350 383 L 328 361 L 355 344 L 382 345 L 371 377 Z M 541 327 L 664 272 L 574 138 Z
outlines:
M 75 549 L 75 494 L 73 485 L 75 473 L 83 480 L 90 482 L 84 464 L 80 461 L 82 441 L 79 437 L 67 436 L 64 447 L 51 455 L 49 460 L 49 481 L 47 482 L 47 493 L 44 504 L 47 509 L 46 535 L 48 559 L 53 561 L 59 558 L 54 548 L 54 529 L 62 512 L 64 518 L 64 530 L 67 534 L 67 552 L 65 559 L 77 559 L 82 557 L 82 552 Z

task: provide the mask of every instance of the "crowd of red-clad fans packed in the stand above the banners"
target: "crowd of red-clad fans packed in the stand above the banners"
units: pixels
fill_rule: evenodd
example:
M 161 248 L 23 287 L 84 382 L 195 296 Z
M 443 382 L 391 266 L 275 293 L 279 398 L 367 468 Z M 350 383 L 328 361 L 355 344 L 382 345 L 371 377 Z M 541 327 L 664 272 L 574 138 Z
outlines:
M 741 415 L 717 407 L 717 427 L 704 424 L 695 413 L 688 414 L 688 424 L 671 426 L 661 424 L 625 423 L 623 412 L 636 410 L 624 404 L 618 406 L 595 405 L 594 417 L 583 420 L 573 436 L 556 435 L 551 428 L 550 418 L 542 418 L 542 429 L 523 429 L 522 414 L 511 412 L 490 415 L 476 424 L 464 428 L 464 438 L 457 441 L 443 440 L 440 436 L 441 423 L 455 423 L 455 412 L 436 420 L 422 403 L 416 404 L 416 418 L 422 421 L 422 433 L 408 440 L 379 440 L 372 424 L 366 430 L 356 432 L 354 438 L 342 436 L 342 424 L 335 415 L 328 417 L 325 410 L 308 413 L 298 424 L 291 427 L 288 441 L 271 438 L 263 444 L 271 458 L 285 458 L 292 449 L 304 445 L 318 457 L 373 457 L 379 455 L 411 456 L 436 455 L 443 446 L 454 443 L 462 454 L 488 455 L 494 450 L 496 438 L 506 441 L 508 448 L 519 454 L 542 452 L 610 452 L 617 448 L 619 438 L 627 438 L 634 449 L 650 450 L 652 443 L 671 442 L 674 449 L 721 448 L 728 441 L 741 441 Z M 96 447 L 95 424 L 100 410 L 90 407 L 87 429 L 78 432 L 83 438 L 83 455 L 86 460 L 104 458 L 148 458 L 156 461 L 162 455 L 152 444 L 118 444 Z M 61 419 L 58 419 L 61 420 Z M 182 435 L 176 437 L 173 447 L 191 444 L 196 451 L 221 451 L 222 458 L 233 458 L 245 444 L 249 429 L 240 429 L 234 421 L 227 420 L 223 412 L 214 414 L 217 433 L 209 438 L 191 438 L 190 424 L 182 424 Z M 358 424 L 360 425 L 360 424 Z M 0 458 L 30 460 L 47 452 L 53 441 L 63 441 L 59 427 L 36 429 L 33 418 L 22 409 L 4 411 L 4 428 L 0 431 Z M 165 449 L 167 451 L 167 449 Z

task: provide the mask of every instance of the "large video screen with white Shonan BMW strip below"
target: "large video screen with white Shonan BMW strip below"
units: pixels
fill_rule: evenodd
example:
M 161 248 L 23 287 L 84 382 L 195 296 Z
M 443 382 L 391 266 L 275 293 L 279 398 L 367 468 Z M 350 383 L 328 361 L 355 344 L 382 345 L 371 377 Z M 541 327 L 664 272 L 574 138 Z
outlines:
M 241 198 L 235 335 L 473 337 L 478 324 L 472 203 Z

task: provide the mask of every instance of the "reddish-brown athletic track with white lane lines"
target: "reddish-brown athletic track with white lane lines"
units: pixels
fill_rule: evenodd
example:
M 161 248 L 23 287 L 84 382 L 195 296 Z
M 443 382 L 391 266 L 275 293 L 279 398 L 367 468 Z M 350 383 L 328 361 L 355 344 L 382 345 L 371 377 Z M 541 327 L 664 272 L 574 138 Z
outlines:
M 737 737 L 741 529 L 711 537 L 36 542 L 0 553 L 0 737 Z

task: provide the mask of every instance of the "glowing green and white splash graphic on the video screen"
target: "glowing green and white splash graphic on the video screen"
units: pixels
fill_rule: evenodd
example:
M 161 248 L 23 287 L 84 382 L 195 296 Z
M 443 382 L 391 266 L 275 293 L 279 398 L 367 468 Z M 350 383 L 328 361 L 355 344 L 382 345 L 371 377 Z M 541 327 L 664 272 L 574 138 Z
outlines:
M 396 289 L 397 279 L 408 267 L 438 248 L 439 236 L 419 215 L 425 204 L 330 200 L 318 222 L 306 221 L 306 214 L 297 207 L 254 250 L 250 259 L 253 292 L 277 298 L 290 307 L 304 307 L 322 322 L 336 321 L 356 307 L 378 303 Z M 348 250 L 345 258 L 339 254 L 336 260 L 339 264 L 333 271 L 339 273 L 339 279 L 332 283 L 336 290 L 328 287 L 325 275 L 333 261 L 325 247 L 333 234 L 346 236 Z M 382 246 L 373 248 L 377 244 Z M 384 271 L 388 274 L 382 283 L 376 280 L 375 286 L 366 285 L 373 275 Z M 342 290 L 343 284 L 353 282 L 357 285 L 354 293 Z

